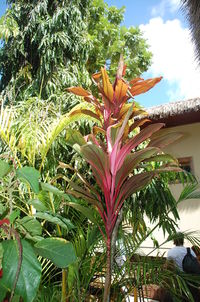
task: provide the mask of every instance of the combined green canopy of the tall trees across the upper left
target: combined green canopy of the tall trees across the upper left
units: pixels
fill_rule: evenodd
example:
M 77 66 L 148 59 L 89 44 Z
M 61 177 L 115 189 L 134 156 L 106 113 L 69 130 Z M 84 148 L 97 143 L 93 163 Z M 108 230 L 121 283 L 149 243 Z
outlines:
M 121 26 L 124 8 L 103 0 L 8 1 L 0 20 L 0 90 L 8 102 L 27 96 L 63 98 L 105 63 L 116 68 L 123 52 L 127 76 L 147 70 L 151 54 L 138 28 Z M 134 73 L 133 73 L 134 70 Z M 112 75 L 112 70 L 111 70 Z

